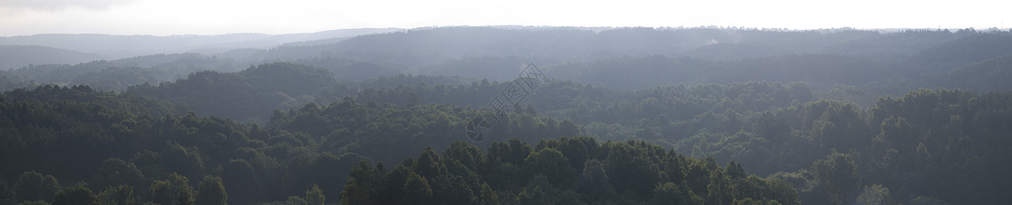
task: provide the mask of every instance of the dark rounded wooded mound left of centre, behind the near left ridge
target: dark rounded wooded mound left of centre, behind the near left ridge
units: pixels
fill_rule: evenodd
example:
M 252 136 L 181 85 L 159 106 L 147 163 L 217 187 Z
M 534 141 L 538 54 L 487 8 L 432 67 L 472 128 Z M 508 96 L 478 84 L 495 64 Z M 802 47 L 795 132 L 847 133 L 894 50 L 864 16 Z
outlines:
M 186 79 L 131 86 L 126 92 L 187 105 L 202 116 L 262 122 L 274 109 L 287 109 L 314 98 L 344 96 L 348 86 L 325 70 L 288 63 L 251 66 L 238 73 L 204 71 Z

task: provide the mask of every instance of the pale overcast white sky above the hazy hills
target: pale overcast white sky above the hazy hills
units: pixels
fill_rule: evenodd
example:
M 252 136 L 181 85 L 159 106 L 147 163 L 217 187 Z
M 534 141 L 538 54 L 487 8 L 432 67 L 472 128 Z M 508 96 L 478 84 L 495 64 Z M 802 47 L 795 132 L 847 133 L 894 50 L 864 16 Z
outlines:
M 0 0 L 0 36 L 458 25 L 1008 29 L 1010 9 L 996 0 Z

